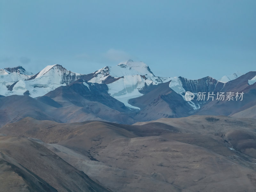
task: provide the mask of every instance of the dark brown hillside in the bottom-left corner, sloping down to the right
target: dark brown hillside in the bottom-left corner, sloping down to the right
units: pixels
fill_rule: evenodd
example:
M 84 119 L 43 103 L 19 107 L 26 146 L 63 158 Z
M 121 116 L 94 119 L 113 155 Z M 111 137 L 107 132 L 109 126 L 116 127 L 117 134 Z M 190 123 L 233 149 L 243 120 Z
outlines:
M 0 136 L 0 191 L 109 191 L 27 138 Z

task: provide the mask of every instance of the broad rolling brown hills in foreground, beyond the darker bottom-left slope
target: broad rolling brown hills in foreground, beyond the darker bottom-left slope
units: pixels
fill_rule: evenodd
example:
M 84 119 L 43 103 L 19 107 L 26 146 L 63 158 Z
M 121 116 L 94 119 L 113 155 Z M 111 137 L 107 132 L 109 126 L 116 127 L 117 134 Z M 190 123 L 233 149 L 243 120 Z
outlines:
M 25 118 L 0 133 L 40 139 L 113 191 L 254 191 L 255 127 L 254 119 L 226 116 L 135 125 Z

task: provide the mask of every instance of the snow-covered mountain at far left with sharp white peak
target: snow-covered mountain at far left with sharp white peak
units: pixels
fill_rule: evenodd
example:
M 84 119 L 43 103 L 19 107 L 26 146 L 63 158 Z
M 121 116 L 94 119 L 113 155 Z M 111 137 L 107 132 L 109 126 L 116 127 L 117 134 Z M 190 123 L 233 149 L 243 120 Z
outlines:
M 10 70 L 10 68 L 7 69 Z M 18 70 L 12 73 L 8 73 L 7 69 L 2 70 L 0 78 L 2 82 L 0 95 L 4 96 L 23 95 L 25 92 L 33 98 L 43 96 L 57 87 L 70 84 L 83 76 L 68 71 L 61 65 L 47 66 L 34 76 L 24 75 L 27 72 L 22 67 L 18 67 Z M 14 69 L 12 68 L 12 71 Z

